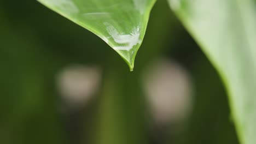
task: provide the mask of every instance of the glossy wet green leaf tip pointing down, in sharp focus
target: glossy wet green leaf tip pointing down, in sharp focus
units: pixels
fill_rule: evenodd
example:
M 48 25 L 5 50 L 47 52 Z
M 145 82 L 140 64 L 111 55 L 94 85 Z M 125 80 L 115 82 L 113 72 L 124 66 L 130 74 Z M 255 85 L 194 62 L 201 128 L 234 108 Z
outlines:
M 38 1 L 106 41 L 132 71 L 156 0 Z

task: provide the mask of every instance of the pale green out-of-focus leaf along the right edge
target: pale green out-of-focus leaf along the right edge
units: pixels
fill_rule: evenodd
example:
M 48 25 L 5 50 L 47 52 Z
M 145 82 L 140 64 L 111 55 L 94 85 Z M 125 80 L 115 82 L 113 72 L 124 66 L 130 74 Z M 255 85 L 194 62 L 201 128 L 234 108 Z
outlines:
M 168 1 L 222 76 L 240 141 L 255 143 L 256 1 Z

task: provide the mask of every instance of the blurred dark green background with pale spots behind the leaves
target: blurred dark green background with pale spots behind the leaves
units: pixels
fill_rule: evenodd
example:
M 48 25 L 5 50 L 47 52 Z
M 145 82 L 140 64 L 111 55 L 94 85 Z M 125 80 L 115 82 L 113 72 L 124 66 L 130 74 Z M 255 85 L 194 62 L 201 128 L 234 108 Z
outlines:
M 216 70 L 166 1 L 152 10 L 132 73 L 36 1 L 0 1 L 0 42 L 0 143 L 238 143 Z M 183 93 L 181 83 L 187 95 L 168 91 Z

